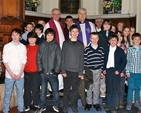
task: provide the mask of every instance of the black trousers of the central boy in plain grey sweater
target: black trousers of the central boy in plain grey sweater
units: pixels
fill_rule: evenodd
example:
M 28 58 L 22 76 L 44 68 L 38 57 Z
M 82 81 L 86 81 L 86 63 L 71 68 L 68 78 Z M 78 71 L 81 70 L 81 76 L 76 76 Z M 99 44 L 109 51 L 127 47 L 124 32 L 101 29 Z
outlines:
M 78 72 L 66 71 L 66 74 L 67 77 L 64 77 L 63 108 L 68 109 L 69 103 L 71 103 L 71 107 L 77 108 L 80 78 L 78 78 Z

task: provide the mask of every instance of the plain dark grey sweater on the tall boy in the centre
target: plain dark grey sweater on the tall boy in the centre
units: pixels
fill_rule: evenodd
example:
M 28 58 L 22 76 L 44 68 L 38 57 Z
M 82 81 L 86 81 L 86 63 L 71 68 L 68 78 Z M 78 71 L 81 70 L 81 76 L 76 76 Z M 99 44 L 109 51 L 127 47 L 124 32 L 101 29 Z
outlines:
M 66 70 L 83 74 L 84 69 L 84 45 L 80 41 L 72 42 L 70 39 L 63 43 L 62 47 L 62 73 Z

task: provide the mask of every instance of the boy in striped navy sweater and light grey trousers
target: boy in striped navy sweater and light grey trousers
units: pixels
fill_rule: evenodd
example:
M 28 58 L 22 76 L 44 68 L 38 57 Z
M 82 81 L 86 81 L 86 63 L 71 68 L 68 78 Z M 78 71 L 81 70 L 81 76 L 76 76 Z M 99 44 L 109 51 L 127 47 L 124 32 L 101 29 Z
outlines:
M 103 74 L 104 66 L 104 49 L 98 45 L 99 35 L 97 32 L 90 34 L 90 45 L 86 47 L 84 51 L 84 65 L 88 67 L 93 73 L 93 84 L 89 86 L 86 97 L 85 110 L 90 110 L 91 105 L 94 104 L 94 108 L 97 111 L 101 111 L 99 105 L 100 96 L 100 79 Z

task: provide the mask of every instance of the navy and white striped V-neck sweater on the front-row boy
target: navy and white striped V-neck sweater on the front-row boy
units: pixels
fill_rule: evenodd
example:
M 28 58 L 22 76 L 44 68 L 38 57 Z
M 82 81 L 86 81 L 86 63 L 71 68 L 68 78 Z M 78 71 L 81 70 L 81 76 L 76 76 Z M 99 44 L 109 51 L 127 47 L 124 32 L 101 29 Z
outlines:
M 97 47 L 94 49 L 91 44 L 84 51 L 84 65 L 92 70 L 102 69 L 104 66 L 104 49 Z

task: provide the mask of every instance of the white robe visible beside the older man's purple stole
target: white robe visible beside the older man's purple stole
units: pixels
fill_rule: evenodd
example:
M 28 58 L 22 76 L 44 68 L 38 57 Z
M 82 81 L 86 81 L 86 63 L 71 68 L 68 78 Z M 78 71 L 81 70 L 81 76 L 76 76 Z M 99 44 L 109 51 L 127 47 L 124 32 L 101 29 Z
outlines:
M 89 22 L 90 27 L 91 27 L 91 32 L 95 32 L 95 27 L 94 24 L 92 22 Z M 84 24 L 80 24 L 80 29 L 82 31 L 82 38 L 83 38 L 83 44 L 84 46 L 87 46 L 87 37 L 86 37 L 86 32 L 85 32 L 85 23 Z

